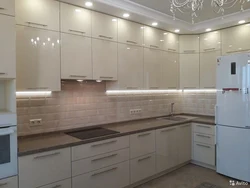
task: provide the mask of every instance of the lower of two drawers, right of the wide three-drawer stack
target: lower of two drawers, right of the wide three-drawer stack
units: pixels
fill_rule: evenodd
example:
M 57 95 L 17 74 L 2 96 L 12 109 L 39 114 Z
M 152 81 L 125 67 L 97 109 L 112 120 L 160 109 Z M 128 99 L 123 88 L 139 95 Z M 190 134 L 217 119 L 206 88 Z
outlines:
M 131 184 L 153 176 L 155 173 L 155 153 L 130 161 Z

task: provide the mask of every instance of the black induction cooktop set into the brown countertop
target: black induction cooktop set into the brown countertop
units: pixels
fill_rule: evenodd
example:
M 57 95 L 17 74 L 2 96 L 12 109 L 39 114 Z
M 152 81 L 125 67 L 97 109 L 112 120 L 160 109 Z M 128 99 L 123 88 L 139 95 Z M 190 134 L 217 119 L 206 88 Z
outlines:
M 85 139 L 91 139 L 91 138 L 96 138 L 100 136 L 108 136 L 108 135 L 117 134 L 117 133 L 119 132 L 109 130 L 109 129 L 104 129 L 101 127 L 96 127 L 92 129 L 67 132 L 66 134 L 73 136 L 75 138 L 81 139 L 81 140 L 85 140 Z

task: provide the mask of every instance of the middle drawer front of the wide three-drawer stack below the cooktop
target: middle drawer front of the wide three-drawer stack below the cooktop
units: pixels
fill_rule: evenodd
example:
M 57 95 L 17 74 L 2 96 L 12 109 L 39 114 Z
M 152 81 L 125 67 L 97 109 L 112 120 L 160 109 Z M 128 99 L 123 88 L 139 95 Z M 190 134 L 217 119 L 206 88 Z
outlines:
M 74 161 L 72 176 L 77 176 L 100 168 L 111 166 L 129 160 L 129 149 L 122 149 L 95 157 Z

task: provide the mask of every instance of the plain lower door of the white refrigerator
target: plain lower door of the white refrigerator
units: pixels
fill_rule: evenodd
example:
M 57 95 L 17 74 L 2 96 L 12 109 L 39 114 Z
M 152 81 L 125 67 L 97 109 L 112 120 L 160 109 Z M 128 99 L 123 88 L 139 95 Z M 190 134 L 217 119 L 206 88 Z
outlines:
M 217 125 L 217 172 L 250 182 L 250 129 Z

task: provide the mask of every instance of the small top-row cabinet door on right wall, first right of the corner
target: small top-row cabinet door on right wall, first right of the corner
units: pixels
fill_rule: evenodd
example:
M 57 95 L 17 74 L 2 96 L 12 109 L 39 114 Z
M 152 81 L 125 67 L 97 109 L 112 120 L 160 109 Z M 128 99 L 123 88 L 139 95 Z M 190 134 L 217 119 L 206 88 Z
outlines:
M 180 35 L 180 53 L 199 53 L 199 35 Z

